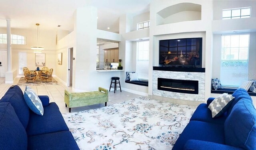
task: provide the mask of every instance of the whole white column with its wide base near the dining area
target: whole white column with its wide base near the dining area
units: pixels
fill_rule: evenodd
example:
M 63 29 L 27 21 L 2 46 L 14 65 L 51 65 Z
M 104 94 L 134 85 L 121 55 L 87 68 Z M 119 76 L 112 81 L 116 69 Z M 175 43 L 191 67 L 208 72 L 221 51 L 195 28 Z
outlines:
M 5 83 L 13 83 L 12 72 L 12 49 L 11 49 L 11 19 L 6 19 L 7 22 L 7 72 L 5 73 Z

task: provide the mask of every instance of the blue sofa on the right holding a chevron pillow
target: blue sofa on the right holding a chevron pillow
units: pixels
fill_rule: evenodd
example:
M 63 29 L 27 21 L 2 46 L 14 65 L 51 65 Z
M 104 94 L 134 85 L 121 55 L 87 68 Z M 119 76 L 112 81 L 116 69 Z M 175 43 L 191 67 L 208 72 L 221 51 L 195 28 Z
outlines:
M 200 104 L 172 150 L 256 150 L 256 109 L 246 90 L 238 89 L 226 113 L 212 118 Z

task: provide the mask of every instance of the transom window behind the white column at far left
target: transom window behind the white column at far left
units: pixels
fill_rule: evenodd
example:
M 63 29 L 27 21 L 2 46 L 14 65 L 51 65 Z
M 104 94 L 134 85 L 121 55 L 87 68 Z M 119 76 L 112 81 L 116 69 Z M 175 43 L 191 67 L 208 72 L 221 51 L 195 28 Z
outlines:
M 0 44 L 6 44 L 7 43 L 7 34 L 0 33 Z M 27 38 L 21 35 L 15 35 L 11 34 L 11 43 L 12 44 L 21 44 L 26 45 L 27 44 Z

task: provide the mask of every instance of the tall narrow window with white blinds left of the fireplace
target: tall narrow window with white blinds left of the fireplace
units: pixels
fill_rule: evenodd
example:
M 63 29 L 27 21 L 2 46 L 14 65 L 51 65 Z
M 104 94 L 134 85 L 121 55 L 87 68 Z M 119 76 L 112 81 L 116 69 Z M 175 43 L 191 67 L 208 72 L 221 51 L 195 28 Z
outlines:
M 149 41 L 137 42 L 136 72 L 138 78 L 142 80 L 148 80 L 148 51 Z

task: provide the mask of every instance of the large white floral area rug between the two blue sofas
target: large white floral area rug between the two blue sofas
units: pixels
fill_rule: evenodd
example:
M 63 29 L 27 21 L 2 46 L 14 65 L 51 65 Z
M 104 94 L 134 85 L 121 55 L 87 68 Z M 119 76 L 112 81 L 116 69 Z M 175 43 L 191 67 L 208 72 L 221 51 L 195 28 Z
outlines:
M 195 109 L 138 97 L 62 115 L 80 150 L 171 150 Z

